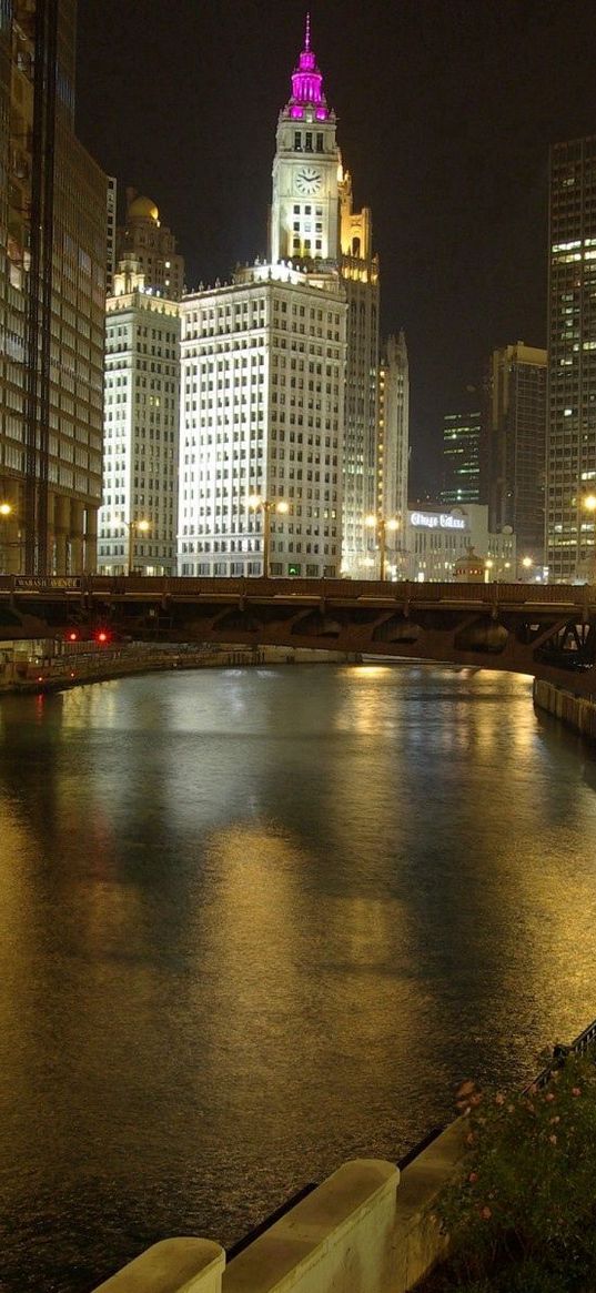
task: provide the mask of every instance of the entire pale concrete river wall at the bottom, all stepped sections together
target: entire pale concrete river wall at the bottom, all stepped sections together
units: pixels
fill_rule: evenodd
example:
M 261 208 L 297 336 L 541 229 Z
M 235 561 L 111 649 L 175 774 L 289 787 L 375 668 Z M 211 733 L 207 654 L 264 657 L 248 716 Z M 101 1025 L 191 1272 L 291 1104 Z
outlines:
M 399 1173 L 346 1162 L 225 1263 L 208 1240 L 171 1239 L 96 1293 L 406 1293 L 445 1253 L 433 1200 L 464 1155 L 458 1118 Z

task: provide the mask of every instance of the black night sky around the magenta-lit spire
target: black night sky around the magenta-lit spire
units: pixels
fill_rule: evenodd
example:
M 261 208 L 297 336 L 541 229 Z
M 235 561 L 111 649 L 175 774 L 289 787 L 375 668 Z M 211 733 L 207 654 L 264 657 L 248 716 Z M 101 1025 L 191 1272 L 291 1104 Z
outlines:
M 78 131 L 151 197 L 189 288 L 266 252 L 306 0 L 80 0 Z M 410 350 L 412 493 L 495 345 L 546 344 L 548 145 L 596 132 L 593 0 L 312 0 L 384 331 Z

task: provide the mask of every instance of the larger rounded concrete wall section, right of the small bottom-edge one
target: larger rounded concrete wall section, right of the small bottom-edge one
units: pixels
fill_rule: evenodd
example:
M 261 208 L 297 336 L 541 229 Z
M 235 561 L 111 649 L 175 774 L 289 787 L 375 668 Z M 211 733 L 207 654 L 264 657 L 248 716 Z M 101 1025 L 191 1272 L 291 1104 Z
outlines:
M 235 1257 L 224 1293 L 374 1293 L 392 1287 L 398 1169 L 346 1162 Z

